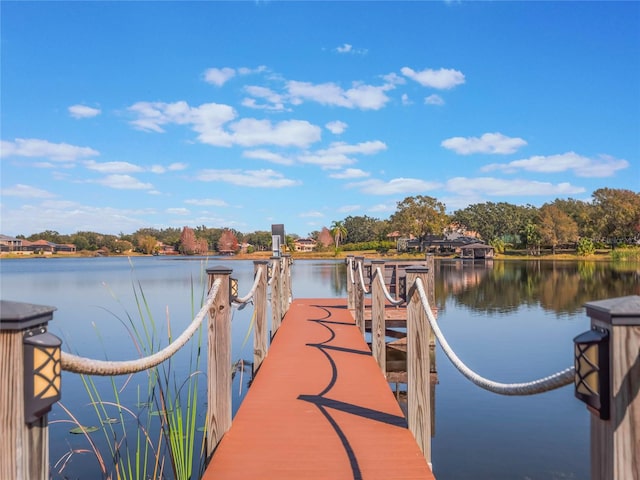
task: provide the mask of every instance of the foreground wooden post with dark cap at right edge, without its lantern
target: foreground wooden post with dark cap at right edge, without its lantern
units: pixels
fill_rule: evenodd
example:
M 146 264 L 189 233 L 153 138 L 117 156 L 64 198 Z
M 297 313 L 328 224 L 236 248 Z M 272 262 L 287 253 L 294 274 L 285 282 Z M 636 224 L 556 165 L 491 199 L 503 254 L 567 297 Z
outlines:
M 591 415 L 591 480 L 640 478 L 640 296 L 585 305 L 609 332 L 609 420 Z

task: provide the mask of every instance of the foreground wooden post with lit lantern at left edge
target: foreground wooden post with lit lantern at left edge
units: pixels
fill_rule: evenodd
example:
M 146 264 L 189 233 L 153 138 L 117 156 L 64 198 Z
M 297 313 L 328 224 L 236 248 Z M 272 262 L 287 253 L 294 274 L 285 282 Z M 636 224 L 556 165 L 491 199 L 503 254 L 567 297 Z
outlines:
M 49 478 L 47 413 L 61 383 L 62 342 L 47 332 L 55 310 L 0 301 L 0 478 Z

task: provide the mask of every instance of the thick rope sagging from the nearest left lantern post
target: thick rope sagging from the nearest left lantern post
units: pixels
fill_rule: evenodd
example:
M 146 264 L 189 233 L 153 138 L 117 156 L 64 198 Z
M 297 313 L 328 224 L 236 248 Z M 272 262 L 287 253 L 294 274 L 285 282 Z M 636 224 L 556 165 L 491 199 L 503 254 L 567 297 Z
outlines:
M 136 360 L 124 360 L 124 361 L 108 361 L 108 360 L 94 360 L 91 358 L 78 357 L 71 353 L 62 352 L 62 369 L 67 372 L 82 373 L 87 375 L 127 375 L 129 373 L 142 372 L 149 368 L 155 367 L 165 360 L 171 358 L 178 350 L 180 350 L 193 334 L 198 330 L 202 320 L 207 316 L 211 304 L 215 300 L 220 284 L 222 280 L 218 278 L 213 282 L 211 291 L 207 296 L 204 305 L 194 317 L 193 321 L 185 329 L 178 338 L 167 345 L 162 350 L 148 355 L 146 357 L 138 358 Z

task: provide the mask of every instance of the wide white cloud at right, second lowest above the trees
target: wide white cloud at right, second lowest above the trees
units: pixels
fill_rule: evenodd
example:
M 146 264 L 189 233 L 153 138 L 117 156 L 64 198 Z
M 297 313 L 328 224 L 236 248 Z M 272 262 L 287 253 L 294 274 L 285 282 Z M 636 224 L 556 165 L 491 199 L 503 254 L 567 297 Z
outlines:
M 501 170 L 513 173 L 517 170 L 525 170 L 537 173 L 559 173 L 572 170 L 578 177 L 602 178 L 611 177 L 616 171 L 629 166 L 626 160 L 620 160 L 608 155 L 599 158 L 589 158 L 578 155 L 575 152 L 567 152 L 560 155 L 536 155 L 522 160 L 514 160 L 509 163 L 492 163 L 482 168 L 484 172 Z

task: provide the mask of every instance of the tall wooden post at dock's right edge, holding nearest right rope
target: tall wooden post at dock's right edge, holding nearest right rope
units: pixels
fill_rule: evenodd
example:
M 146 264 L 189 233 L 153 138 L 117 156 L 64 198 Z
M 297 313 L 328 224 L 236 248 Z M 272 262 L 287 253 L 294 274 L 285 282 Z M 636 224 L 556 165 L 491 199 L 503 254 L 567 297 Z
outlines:
M 427 288 L 429 269 L 409 267 L 407 274 L 407 421 L 418 446 L 431 464 L 431 390 L 429 320 L 415 281 Z

